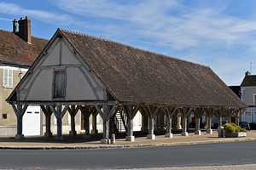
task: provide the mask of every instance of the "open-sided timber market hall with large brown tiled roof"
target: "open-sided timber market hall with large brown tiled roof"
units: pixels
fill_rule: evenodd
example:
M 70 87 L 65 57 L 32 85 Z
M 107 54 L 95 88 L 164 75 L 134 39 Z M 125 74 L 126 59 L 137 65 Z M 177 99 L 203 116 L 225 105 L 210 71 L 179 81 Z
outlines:
M 142 130 L 155 139 L 154 128 L 165 126 L 172 138 L 172 127 L 182 126 L 188 135 L 187 120 L 195 116 L 195 133 L 201 134 L 201 116 L 212 133 L 212 116 L 239 117 L 246 107 L 207 66 L 73 31 L 58 29 L 29 71 L 7 99 L 17 116 L 16 138 L 22 138 L 22 116 L 27 106 L 40 105 L 44 111 L 46 135 L 50 136 L 50 116 L 62 136 L 62 117 L 81 111 L 89 117 L 96 132 L 96 115 L 103 121 L 102 142 L 115 133 L 119 113 L 125 125 L 126 140 L 134 141 L 133 118 L 142 114 Z

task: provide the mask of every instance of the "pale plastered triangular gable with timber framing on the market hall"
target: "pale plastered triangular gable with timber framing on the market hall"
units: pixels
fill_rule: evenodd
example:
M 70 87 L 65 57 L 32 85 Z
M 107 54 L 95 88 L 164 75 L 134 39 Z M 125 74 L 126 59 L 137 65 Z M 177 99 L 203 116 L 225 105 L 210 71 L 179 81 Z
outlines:
M 63 95 L 57 96 L 62 93 Z M 62 91 L 62 92 L 61 92 Z M 106 89 L 75 49 L 56 37 L 16 89 L 20 101 L 105 100 Z

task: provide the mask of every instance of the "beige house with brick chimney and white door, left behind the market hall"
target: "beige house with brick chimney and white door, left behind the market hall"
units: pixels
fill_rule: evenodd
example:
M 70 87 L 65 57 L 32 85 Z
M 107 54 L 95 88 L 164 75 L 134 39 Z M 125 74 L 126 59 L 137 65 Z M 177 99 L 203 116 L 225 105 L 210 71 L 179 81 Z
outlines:
M 16 116 L 5 99 L 20 82 L 46 42 L 45 39 L 32 37 L 31 22 L 27 18 L 14 20 L 13 31 L 0 30 L 0 136 L 15 134 Z M 42 133 L 40 108 L 30 107 L 27 113 L 25 123 L 28 126 L 24 127 L 24 132 Z M 29 124 L 35 125 L 35 128 L 30 129 Z

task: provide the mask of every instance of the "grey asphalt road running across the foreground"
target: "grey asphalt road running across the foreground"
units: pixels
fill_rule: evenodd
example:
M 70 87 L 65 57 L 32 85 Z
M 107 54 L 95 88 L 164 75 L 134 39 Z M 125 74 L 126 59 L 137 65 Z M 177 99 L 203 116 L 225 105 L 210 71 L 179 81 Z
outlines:
M 256 142 L 108 150 L 0 150 L 0 169 L 112 169 L 255 164 Z

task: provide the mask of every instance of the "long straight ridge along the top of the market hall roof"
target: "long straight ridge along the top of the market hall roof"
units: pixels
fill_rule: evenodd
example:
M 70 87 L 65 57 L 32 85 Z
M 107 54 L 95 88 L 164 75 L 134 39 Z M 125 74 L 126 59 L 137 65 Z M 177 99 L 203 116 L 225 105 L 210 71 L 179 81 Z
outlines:
M 81 31 L 70 31 L 70 30 L 62 29 L 62 28 L 59 28 L 59 30 L 60 30 L 60 31 L 64 31 L 64 32 L 66 31 L 67 33 L 71 33 L 71 34 L 75 34 L 75 35 L 79 35 L 79 36 L 95 38 L 95 39 L 97 39 L 97 40 L 102 40 L 102 41 L 105 41 L 105 42 L 113 42 L 113 43 L 116 43 L 116 44 L 118 44 L 118 45 L 122 45 L 122 46 L 125 46 L 125 47 L 128 47 L 128 48 L 133 48 L 133 49 L 136 49 L 136 50 L 143 51 L 143 52 L 145 52 L 145 53 L 156 54 L 156 55 L 158 55 L 159 57 L 164 57 L 164 58 L 166 58 L 166 59 L 175 59 L 175 60 L 177 60 L 177 61 L 182 61 L 182 62 L 191 64 L 191 65 L 200 65 L 200 66 L 203 66 L 203 67 L 210 68 L 210 67 L 207 66 L 207 65 L 202 65 L 202 64 L 199 64 L 199 63 L 195 63 L 195 62 L 192 62 L 192 61 L 185 60 L 185 59 L 178 59 L 177 57 L 168 56 L 168 55 L 166 55 L 166 54 L 160 54 L 160 53 L 153 52 L 153 51 L 150 51 L 150 50 L 147 50 L 147 49 L 143 49 L 143 48 L 136 48 L 136 47 L 133 47 L 133 46 L 131 46 L 131 45 L 128 45 L 128 44 L 125 44 L 125 43 L 122 43 L 122 42 L 117 42 L 117 41 L 110 40 L 110 39 L 108 39 L 108 38 L 103 38 L 103 37 L 96 37 L 96 36 L 94 36 L 94 35 L 86 34 L 86 33 L 81 32 Z

